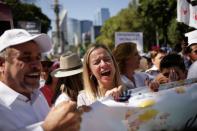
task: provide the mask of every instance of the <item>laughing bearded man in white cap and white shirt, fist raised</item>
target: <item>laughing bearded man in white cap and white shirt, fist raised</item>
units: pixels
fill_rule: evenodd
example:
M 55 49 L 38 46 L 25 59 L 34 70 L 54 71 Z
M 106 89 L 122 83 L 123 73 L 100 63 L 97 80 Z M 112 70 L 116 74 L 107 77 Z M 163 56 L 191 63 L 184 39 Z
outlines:
M 46 34 L 32 36 L 23 29 L 11 29 L 0 37 L 0 130 L 79 130 L 81 112 L 76 103 L 63 102 L 49 111 L 38 90 L 41 53 L 50 49 Z

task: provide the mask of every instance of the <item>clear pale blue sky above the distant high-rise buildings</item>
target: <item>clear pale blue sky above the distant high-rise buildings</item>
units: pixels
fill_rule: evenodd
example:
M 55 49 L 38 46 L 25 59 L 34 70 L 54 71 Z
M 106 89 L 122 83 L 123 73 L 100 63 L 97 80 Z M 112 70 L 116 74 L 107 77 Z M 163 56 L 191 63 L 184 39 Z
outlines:
M 94 20 L 94 15 L 99 8 L 109 8 L 111 16 L 116 15 L 122 8 L 128 7 L 131 0 L 59 0 L 62 9 L 68 11 L 68 17 L 79 20 Z M 55 22 L 55 14 L 52 5 L 54 0 L 37 0 L 40 6 L 51 20 Z

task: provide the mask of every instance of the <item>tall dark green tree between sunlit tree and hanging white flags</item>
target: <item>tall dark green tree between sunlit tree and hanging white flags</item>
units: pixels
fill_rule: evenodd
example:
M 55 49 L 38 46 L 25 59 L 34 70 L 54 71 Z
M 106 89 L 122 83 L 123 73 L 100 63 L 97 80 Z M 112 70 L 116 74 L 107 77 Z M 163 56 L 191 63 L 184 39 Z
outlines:
M 144 18 L 146 25 L 151 25 L 155 31 L 150 34 L 156 36 L 159 33 L 159 41 L 164 44 L 171 44 L 168 39 L 168 27 L 176 17 L 176 1 L 173 0 L 141 0 L 139 13 Z M 147 27 L 146 30 L 150 28 Z

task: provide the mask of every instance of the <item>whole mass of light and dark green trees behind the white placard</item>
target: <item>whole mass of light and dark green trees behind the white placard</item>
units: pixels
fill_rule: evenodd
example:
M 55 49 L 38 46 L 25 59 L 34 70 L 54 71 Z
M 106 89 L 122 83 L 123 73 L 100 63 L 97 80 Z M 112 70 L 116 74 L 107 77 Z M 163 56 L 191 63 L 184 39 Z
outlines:
M 160 45 L 174 46 L 184 33 L 191 31 L 187 25 L 176 21 L 176 0 L 140 0 L 138 6 L 129 4 L 116 16 L 105 22 L 97 42 L 114 46 L 115 32 L 143 32 L 145 51 L 156 45 L 156 32 Z

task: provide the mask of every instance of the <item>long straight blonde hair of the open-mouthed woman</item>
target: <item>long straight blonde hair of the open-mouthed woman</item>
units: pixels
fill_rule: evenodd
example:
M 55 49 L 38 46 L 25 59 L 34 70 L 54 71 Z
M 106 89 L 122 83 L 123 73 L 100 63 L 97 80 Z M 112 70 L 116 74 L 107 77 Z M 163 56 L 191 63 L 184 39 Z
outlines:
M 114 87 L 118 87 L 121 85 L 121 79 L 120 79 L 120 72 L 118 69 L 118 65 L 115 61 L 114 56 L 112 55 L 111 51 L 103 44 L 91 44 L 90 47 L 88 48 L 87 52 L 84 55 L 84 62 L 83 62 L 83 82 L 84 82 L 84 89 L 91 100 L 96 100 L 99 97 L 102 97 L 101 94 L 99 94 L 99 89 L 98 89 L 98 82 L 96 80 L 96 77 L 91 75 L 91 70 L 89 66 L 89 57 L 90 54 L 98 49 L 98 48 L 103 48 L 105 49 L 111 56 L 114 67 L 116 69 L 115 76 L 114 76 Z

